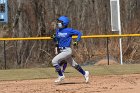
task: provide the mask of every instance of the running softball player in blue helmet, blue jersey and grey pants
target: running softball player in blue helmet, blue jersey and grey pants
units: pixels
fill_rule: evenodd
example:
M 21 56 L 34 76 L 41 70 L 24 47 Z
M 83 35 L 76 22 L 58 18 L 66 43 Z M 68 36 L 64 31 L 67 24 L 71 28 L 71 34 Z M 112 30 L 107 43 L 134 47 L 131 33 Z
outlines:
M 72 36 L 78 35 L 76 41 L 74 42 L 74 45 L 76 46 L 81 39 L 82 33 L 78 30 L 67 27 L 70 22 L 67 16 L 61 16 L 57 19 L 57 21 L 58 29 L 56 29 L 54 40 L 58 42 L 60 53 L 56 55 L 52 60 L 52 64 L 58 72 L 58 78 L 55 80 L 55 83 L 59 83 L 65 78 L 64 73 L 62 73 L 61 67 L 59 65 L 62 60 L 70 63 L 72 67 L 74 67 L 84 76 L 85 82 L 88 82 L 89 71 L 84 71 L 82 67 L 74 61 L 74 59 L 72 58 L 72 49 L 70 48 Z

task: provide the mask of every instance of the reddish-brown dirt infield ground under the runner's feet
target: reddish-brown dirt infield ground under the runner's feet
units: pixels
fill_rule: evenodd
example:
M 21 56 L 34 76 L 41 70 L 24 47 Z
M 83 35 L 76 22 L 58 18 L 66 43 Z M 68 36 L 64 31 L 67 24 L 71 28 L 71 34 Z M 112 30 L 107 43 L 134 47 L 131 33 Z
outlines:
M 54 78 L 23 81 L 0 81 L 0 93 L 140 93 L 140 74 L 66 77 L 62 84 Z

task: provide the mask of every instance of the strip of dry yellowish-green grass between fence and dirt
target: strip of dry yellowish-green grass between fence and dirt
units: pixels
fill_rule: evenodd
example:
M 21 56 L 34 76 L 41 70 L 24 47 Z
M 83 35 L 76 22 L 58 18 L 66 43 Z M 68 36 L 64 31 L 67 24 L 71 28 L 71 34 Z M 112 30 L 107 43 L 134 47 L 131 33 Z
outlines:
M 109 66 L 84 66 L 91 75 L 122 75 L 140 74 L 140 64 L 135 65 L 109 65 Z M 72 67 L 67 67 L 66 77 L 81 76 Z M 30 80 L 57 77 L 54 68 L 10 69 L 0 70 L 0 80 Z

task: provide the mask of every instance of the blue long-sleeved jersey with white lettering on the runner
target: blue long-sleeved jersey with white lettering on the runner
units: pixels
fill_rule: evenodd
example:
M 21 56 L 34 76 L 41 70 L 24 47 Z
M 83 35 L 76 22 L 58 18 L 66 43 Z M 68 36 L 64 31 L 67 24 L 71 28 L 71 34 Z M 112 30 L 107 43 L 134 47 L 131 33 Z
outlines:
M 58 47 L 70 47 L 72 36 L 77 35 L 76 41 L 80 41 L 82 33 L 73 28 L 63 28 L 56 30 L 56 40 L 58 41 Z

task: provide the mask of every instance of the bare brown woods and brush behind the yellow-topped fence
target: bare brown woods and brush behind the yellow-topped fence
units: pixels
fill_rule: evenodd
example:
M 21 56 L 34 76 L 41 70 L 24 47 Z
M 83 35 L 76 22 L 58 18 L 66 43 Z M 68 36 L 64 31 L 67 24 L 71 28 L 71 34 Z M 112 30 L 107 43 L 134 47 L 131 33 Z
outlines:
M 110 29 L 109 0 L 9 0 L 8 7 L 5 37 L 51 36 L 60 15 L 67 15 L 71 19 L 69 27 L 80 30 L 83 35 L 118 34 Z M 139 8 L 139 0 L 121 0 L 123 34 L 140 33 Z M 139 43 L 138 37 L 123 38 L 126 63 L 138 62 Z M 0 47 L 3 48 L 3 43 Z M 6 52 L 8 68 L 50 66 L 54 44 L 52 40 L 6 41 Z M 109 39 L 109 52 L 119 61 L 118 38 Z M 3 51 L 0 54 L 2 58 Z M 106 58 L 106 39 L 82 39 L 79 47 L 74 48 L 74 56 L 80 63 Z

